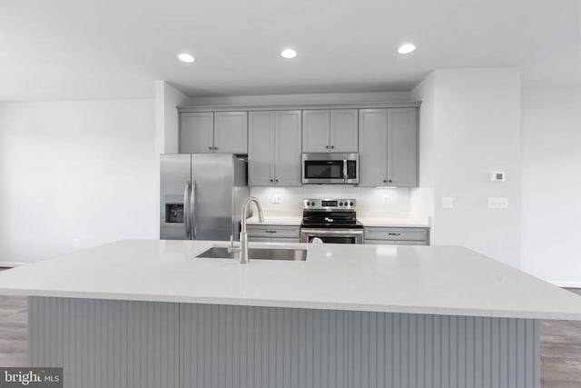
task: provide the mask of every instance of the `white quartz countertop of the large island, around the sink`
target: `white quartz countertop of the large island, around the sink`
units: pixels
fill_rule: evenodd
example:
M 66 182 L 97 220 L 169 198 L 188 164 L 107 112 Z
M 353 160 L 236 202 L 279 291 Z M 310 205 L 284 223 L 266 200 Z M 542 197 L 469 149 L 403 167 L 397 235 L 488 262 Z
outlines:
M 0 273 L 0 294 L 581 320 L 581 297 L 462 247 L 256 243 L 307 260 L 194 258 L 204 241 L 124 240 Z

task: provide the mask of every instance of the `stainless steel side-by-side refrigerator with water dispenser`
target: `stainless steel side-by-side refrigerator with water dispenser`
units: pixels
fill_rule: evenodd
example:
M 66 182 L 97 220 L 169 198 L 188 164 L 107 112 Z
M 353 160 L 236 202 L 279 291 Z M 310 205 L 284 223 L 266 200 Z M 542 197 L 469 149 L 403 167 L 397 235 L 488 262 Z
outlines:
M 230 240 L 249 196 L 246 161 L 233 154 L 161 155 L 160 238 Z

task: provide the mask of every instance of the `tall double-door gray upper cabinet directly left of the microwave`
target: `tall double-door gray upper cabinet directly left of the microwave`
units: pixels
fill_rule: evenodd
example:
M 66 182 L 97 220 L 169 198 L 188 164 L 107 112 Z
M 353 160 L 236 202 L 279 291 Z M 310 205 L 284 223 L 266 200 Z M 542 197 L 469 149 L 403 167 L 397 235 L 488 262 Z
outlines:
M 249 114 L 248 184 L 300 186 L 300 111 Z

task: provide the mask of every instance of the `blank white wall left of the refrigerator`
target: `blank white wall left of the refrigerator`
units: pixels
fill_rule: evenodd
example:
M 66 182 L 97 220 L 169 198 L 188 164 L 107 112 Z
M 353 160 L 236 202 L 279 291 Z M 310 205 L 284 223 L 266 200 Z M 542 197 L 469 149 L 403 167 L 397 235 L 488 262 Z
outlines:
M 0 262 L 155 238 L 153 100 L 0 104 Z

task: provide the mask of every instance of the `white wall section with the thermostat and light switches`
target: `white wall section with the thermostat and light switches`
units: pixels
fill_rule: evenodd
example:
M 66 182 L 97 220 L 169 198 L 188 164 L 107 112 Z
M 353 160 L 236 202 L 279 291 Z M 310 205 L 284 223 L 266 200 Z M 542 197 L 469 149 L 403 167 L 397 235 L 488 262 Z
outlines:
M 433 174 L 432 244 L 464 245 L 518 267 L 518 69 L 436 70 L 425 82 L 430 85 L 420 85 L 412 95 L 431 104 L 429 114 L 422 112 L 421 128 L 433 133 L 424 134 L 423 139 L 433 141 L 434 154 L 428 155 L 428 161 L 420 159 L 420 164 L 431 164 L 428 169 L 422 166 L 421 171 Z M 430 120 L 428 125 L 424 120 Z M 422 154 L 426 156 L 426 152 Z M 504 171 L 507 182 L 489 182 L 491 171 Z M 453 209 L 441 207 L 443 196 L 453 197 Z M 506 197 L 508 209 L 487 209 L 487 197 Z

